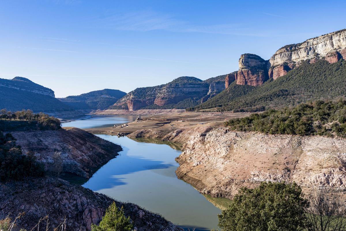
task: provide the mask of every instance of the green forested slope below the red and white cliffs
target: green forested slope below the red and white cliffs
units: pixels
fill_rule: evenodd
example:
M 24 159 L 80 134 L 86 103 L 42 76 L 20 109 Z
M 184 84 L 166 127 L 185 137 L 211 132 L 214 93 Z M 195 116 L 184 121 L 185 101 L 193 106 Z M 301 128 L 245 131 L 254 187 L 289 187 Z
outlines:
M 219 95 L 200 104 L 195 109 L 215 108 L 227 111 L 252 111 L 263 108 L 280 108 L 309 100 L 345 97 L 346 61 L 330 64 L 325 60 L 308 61 L 275 81 L 262 86 L 243 89 L 234 83 Z

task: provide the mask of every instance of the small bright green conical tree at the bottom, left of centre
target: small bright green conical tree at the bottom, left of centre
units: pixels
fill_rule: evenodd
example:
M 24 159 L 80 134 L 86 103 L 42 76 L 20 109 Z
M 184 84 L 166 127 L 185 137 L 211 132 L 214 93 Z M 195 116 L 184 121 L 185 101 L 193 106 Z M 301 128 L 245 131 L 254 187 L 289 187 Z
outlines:
M 106 214 L 102 217 L 102 221 L 99 225 L 92 224 L 91 231 L 132 231 L 133 224 L 130 217 L 126 217 L 124 214 L 124 208 L 120 210 L 113 202 L 106 211 Z

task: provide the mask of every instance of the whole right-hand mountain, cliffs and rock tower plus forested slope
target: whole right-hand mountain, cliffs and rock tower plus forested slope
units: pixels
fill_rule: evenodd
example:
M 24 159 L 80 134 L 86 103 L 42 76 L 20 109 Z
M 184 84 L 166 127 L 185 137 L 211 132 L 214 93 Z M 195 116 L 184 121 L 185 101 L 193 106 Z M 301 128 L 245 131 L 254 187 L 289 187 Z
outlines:
M 344 97 L 345 59 L 346 29 L 283 46 L 269 60 L 242 54 L 227 89 L 188 110 L 257 111 Z

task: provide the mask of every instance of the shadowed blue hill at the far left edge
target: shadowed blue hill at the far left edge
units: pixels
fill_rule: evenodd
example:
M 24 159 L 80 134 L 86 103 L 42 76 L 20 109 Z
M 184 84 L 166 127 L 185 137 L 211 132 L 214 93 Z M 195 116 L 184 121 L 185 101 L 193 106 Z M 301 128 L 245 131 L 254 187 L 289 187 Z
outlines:
M 0 79 L 0 108 L 17 111 L 72 113 L 70 106 L 55 98 L 54 91 L 27 78 Z

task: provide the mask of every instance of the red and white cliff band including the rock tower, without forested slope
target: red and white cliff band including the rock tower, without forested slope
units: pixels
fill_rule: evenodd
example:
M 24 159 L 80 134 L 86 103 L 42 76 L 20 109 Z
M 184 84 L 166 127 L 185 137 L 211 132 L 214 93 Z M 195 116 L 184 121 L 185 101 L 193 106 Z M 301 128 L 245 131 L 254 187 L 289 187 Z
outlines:
M 313 63 L 318 59 L 325 59 L 329 63 L 346 59 L 346 29 L 286 45 L 277 50 L 268 61 L 258 55 L 242 54 L 236 83 L 262 85 L 269 78 L 275 80 L 285 75 L 302 61 L 310 60 Z M 225 83 L 227 85 L 227 81 Z

